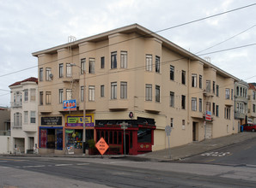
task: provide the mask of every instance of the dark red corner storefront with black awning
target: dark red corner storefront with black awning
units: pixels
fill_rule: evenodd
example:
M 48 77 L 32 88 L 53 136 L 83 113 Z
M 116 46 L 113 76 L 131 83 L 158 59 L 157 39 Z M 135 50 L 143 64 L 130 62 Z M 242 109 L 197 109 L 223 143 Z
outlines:
M 121 124 L 125 122 L 124 130 Z M 155 120 L 137 117 L 137 120 L 95 120 L 96 141 L 104 138 L 108 155 L 137 155 L 152 151 Z M 124 136 L 125 135 L 125 136 Z

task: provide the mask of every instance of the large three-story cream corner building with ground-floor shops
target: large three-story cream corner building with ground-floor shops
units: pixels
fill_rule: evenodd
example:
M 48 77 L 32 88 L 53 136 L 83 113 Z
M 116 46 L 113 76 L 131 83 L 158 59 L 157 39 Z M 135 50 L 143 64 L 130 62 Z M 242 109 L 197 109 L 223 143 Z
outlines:
M 232 93 L 239 79 L 143 26 L 33 56 L 39 63 L 41 153 L 64 153 L 70 145 L 81 152 L 84 91 L 87 140 L 103 137 L 113 153 L 168 148 L 167 125 L 173 127 L 172 147 L 238 132 Z M 76 109 L 66 111 L 63 102 L 70 99 Z

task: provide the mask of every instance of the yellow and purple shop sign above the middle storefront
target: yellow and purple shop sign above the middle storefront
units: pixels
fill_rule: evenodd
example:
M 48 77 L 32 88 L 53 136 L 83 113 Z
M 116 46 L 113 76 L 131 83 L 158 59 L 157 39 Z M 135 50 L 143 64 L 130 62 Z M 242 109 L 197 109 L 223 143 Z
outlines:
M 67 115 L 66 116 L 66 126 L 83 126 L 83 116 L 82 115 Z M 94 126 L 94 115 L 87 114 L 85 118 L 85 126 Z

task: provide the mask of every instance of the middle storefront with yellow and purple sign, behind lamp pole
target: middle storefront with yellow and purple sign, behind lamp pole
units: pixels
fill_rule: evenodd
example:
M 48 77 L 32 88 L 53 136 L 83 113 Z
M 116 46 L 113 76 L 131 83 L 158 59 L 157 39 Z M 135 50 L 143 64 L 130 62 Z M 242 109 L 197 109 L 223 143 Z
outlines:
M 65 115 L 65 147 L 72 147 L 76 152 L 82 152 L 83 115 Z M 94 139 L 94 115 L 87 114 L 86 140 Z

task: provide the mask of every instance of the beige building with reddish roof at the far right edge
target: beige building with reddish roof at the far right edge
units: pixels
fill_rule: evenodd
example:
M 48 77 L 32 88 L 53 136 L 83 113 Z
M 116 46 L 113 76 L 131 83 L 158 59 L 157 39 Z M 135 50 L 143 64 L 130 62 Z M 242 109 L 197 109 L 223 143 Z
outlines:
M 248 91 L 248 123 L 256 124 L 256 84 L 249 84 Z

